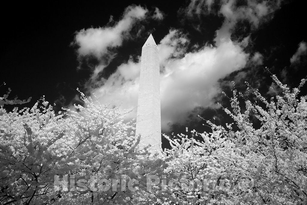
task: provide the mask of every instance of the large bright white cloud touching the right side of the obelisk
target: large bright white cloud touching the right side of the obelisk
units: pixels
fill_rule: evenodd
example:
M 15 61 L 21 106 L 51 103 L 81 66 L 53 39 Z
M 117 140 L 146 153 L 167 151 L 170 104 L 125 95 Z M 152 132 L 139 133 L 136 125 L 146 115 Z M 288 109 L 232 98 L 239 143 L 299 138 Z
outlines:
M 174 122 L 183 124 L 197 107 L 215 107 L 213 97 L 220 93 L 217 81 L 242 69 L 247 58 L 238 45 L 227 41 L 169 59 L 161 77 L 162 128 Z

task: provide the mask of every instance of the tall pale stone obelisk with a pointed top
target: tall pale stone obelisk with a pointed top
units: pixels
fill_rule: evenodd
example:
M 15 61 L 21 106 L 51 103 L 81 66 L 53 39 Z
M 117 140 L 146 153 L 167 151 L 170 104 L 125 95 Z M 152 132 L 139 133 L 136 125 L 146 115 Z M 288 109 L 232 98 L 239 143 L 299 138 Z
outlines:
M 162 151 L 159 53 L 151 34 L 142 47 L 136 136 L 139 134 L 140 149 L 150 144 L 152 154 Z

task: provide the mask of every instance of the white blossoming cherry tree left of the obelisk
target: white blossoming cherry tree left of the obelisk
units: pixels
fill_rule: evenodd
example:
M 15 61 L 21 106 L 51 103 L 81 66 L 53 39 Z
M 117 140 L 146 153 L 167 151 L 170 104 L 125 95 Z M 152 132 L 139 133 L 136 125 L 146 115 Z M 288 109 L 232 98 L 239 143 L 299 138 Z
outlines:
M 98 192 L 91 181 L 135 178 L 142 156 L 149 156 L 146 149 L 135 151 L 139 138 L 133 123 L 123 122 L 130 111 L 80 95 L 84 106 L 57 114 L 44 97 L 32 108 L 7 112 L 1 106 L 1 204 L 125 203 L 137 193 L 126 185 L 121 191 Z M 55 179 L 67 175 L 76 180 L 57 187 Z

